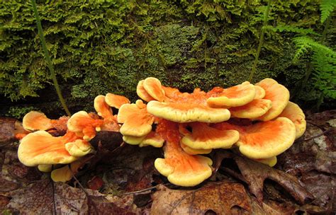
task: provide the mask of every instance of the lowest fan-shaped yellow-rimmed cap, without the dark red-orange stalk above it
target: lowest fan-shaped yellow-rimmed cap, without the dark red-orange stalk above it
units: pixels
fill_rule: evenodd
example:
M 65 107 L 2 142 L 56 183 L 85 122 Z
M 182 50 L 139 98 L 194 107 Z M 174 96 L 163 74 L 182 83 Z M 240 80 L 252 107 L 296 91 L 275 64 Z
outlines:
M 167 142 L 164 158 L 157 158 L 154 165 L 169 182 L 184 187 L 198 185 L 212 174 L 210 158 L 189 155 L 181 149 L 179 143 Z

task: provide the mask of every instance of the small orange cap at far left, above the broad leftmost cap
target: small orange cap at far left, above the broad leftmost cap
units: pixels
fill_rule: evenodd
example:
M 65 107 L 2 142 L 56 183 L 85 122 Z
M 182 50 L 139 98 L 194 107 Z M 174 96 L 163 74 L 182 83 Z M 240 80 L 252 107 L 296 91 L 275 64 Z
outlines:
M 30 111 L 23 117 L 23 128 L 30 131 L 52 129 L 52 122 L 43 112 Z

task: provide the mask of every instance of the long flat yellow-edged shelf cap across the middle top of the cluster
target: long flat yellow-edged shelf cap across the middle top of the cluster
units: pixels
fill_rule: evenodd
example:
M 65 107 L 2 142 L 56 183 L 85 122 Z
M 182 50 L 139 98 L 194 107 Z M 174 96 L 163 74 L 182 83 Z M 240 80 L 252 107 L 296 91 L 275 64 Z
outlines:
M 209 108 L 196 103 L 159 103 L 150 101 L 147 111 L 173 122 L 223 122 L 230 119 L 230 111 L 226 108 Z

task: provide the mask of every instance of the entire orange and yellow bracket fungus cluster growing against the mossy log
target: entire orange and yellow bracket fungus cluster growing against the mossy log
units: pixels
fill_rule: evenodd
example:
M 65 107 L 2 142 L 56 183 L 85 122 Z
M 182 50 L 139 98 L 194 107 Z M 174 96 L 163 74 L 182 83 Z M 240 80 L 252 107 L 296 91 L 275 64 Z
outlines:
M 113 93 L 98 95 L 94 99 L 97 114 L 79 111 L 69 120 L 28 113 L 23 127 L 39 131 L 23 137 L 18 158 L 25 165 L 50 172 L 52 166 L 78 162 L 93 152 L 89 141 L 96 132 L 121 132 L 128 144 L 163 146 L 164 158 L 155 160 L 155 168 L 174 185 L 189 187 L 212 174 L 211 158 L 200 154 L 233 149 L 273 166 L 276 156 L 306 130 L 303 111 L 289 102 L 289 91 L 273 79 L 182 93 L 149 77 L 139 81 L 137 94 L 143 101 L 130 103 Z M 118 109 L 118 115 L 113 115 L 112 108 Z M 48 133 L 57 123 L 67 130 L 64 136 Z M 52 180 L 70 180 L 76 172 L 71 166 L 52 170 Z

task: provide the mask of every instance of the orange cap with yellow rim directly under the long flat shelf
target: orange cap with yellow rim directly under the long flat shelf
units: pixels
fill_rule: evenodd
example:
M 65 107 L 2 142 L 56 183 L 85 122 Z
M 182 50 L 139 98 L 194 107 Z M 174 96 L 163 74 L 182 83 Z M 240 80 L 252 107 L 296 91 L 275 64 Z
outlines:
M 220 130 L 209 127 L 206 123 L 190 123 L 192 132 L 186 134 L 181 143 L 192 149 L 228 149 L 239 139 L 236 130 Z

